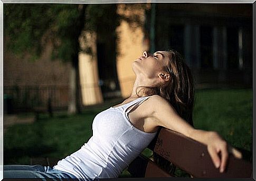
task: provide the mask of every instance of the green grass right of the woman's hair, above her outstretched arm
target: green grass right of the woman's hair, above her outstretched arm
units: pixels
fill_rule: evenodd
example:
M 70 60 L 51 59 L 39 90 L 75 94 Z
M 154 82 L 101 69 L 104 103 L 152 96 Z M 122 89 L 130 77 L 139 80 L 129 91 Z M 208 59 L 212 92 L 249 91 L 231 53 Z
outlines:
M 196 128 L 215 130 L 231 145 L 251 150 L 252 89 L 200 90 L 195 98 Z

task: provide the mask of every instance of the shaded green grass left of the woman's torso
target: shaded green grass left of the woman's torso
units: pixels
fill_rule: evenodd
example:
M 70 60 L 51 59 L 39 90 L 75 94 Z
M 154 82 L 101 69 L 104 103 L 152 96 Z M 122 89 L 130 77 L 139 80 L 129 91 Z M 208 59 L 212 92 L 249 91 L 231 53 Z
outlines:
M 102 110 L 102 109 L 101 109 Z M 79 115 L 42 115 L 33 124 L 8 128 L 4 135 L 4 164 L 30 164 L 30 157 L 63 158 L 78 150 L 92 135 L 94 110 Z

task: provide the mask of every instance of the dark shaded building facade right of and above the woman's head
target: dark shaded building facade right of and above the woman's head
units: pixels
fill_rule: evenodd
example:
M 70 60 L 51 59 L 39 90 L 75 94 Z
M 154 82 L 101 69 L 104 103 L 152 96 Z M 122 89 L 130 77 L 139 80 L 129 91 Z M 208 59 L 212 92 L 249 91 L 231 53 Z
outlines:
M 152 7 L 155 49 L 181 52 L 197 87 L 252 85 L 252 6 L 159 3 Z

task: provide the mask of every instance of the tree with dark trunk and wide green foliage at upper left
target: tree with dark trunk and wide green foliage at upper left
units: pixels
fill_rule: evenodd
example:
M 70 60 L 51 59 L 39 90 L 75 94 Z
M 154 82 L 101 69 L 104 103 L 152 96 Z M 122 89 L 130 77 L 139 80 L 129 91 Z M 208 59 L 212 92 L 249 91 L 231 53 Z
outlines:
M 144 9 L 144 4 L 122 4 L 125 9 Z M 81 51 L 79 36 L 84 28 L 101 34 L 109 41 L 109 32 L 116 38 L 115 28 L 120 19 L 132 26 L 143 26 L 136 15 L 117 14 L 117 4 L 4 4 L 4 35 L 8 48 L 20 57 L 27 53 L 35 61 L 48 41 L 53 45 L 52 59 L 71 62 L 69 113 L 80 112 L 78 54 Z M 113 28 L 104 34 L 104 28 Z M 103 28 L 102 28 L 103 27 Z M 115 41 L 111 45 L 115 46 Z M 90 50 L 88 50 L 90 53 Z M 111 58 L 115 61 L 115 55 Z

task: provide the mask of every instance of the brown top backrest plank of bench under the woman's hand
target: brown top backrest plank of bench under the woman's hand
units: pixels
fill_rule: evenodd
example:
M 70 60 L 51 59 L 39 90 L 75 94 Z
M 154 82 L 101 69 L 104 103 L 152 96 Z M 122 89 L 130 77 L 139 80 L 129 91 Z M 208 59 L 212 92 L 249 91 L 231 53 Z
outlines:
M 207 147 L 166 128 L 160 130 L 154 152 L 194 177 L 251 177 L 252 164 L 229 156 L 227 168 L 220 173 L 212 163 Z

